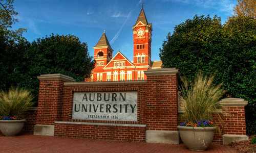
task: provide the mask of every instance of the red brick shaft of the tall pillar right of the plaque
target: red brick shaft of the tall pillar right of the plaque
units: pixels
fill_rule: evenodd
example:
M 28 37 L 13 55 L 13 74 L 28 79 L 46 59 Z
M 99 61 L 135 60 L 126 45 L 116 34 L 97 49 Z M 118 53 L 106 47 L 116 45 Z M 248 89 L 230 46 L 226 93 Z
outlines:
M 147 77 L 147 130 L 177 131 L 176 75 Z

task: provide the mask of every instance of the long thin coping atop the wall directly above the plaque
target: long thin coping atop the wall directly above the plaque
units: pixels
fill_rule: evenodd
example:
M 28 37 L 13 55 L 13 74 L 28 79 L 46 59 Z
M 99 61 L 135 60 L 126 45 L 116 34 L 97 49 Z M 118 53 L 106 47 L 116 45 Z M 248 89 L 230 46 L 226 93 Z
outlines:
M 146 84 L 146 80 L 136 81 L 100 81 L 100 82 L 66 82 L 65 86 L 78 86 L 78 85 L 117 85 L 117 84 Z

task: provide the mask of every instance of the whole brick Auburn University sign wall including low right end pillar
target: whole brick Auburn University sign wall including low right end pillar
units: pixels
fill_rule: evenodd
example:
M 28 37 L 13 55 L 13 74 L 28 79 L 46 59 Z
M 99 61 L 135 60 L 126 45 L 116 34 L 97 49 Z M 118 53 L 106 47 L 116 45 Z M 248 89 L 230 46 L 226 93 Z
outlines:
M 40 75 L 34 134 L 179 144 L 178 69 L 144 73 L 147 80 L 112 82 Z M 223 127 L 217 123 L 222 133 L 215 135 L 215 143 L 246 134 L 243 108 L 247 102 L 231 98 L 221 104 L 229 112 L 223 114 Z

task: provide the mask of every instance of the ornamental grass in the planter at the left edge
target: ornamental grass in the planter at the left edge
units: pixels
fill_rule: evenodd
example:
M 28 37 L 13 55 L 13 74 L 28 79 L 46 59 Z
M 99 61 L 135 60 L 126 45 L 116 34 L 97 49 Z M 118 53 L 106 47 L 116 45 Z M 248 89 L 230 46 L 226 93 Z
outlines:
M 10 88 L 0 92 L 0 119 L 23 119 L 24 113 L 33 105 L 34 96 L 27 89 Z

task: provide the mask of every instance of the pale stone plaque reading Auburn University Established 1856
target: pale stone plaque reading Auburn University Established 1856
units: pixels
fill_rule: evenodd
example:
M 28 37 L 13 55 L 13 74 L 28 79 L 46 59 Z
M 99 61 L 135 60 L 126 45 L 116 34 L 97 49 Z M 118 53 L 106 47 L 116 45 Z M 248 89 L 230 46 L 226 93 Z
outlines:
M 72 119 L 137 121 L 137 91 L 74 92 Z

